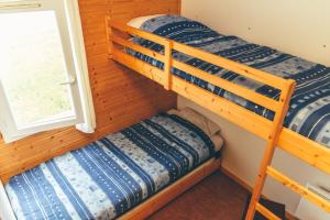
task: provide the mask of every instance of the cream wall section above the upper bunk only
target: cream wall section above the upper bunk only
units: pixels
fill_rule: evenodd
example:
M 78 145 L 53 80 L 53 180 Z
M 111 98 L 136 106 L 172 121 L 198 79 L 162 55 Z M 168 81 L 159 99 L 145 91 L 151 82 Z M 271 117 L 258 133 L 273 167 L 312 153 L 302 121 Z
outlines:
M 182 0 L 183 14 L 330 66 L 329 0 Z

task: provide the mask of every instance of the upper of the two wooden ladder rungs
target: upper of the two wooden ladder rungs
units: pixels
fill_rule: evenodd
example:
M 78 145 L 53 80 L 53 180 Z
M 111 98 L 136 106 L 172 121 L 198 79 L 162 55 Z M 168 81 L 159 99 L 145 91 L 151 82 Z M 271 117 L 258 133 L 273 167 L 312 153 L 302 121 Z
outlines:
M 277 182 L 282 183 L 284 186 L 288 187 L 293 191 L 301 195 L 309 201 L 316 204 L 317 206 L 321 207 L 326 211 L 330 212 L 330 201 L 323 199 L 322 197 L 318 196 L 317 194 L 310 191 L 306 187 L 301 186 L 300 184 L 294 182 L 289 177 L 280 174 L 275 168 L 268 166 L 267 174 L 275 178 Z

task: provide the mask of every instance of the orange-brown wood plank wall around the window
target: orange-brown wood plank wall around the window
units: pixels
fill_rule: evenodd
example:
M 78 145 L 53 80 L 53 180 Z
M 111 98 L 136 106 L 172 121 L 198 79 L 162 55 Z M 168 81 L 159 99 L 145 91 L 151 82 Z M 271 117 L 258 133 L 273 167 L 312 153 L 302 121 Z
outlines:
M 79 0 L 79 6 L 97 132 L 82 134 L 75 128 L 66 128 L 12 144 L 4 144 L 0 139 L 0 178 L 4 183 L 56 155 L 176 106 L 174 94 L 108 61 L 105 16 L 128 21 L 139 15 L 179 13 L 180 0 Z

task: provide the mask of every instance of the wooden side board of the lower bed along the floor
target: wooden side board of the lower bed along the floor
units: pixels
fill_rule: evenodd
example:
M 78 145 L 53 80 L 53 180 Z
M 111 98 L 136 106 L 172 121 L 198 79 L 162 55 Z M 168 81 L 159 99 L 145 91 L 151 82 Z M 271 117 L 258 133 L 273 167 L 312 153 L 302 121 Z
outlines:
M 133 208 L 122 217 L 120 220 L 142 220 L 150 217 L 152 213 L 164 207 L 166 204 L 188 190 L 194 185 L 198 184 L 205 177 L 209 176 L 220 167 L 220 158 L 211 158 L 204 163 L 179 180 L 169 185 L 165 189 L 157 193 L 155 196 L 145 200 L 138 207 Z

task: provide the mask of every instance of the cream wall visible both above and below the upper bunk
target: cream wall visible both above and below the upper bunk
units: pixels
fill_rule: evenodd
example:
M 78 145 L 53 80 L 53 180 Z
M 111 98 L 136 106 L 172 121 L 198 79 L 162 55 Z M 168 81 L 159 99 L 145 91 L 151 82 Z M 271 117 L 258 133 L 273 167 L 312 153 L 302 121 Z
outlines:
M 309 61 L 330 65 L 329 0 L 183 0 L 183 14 L 201 21 L 223 34 L 239 35 Z M 178 107 L 191 107 L 216 121 L 227 140 L 223 166 L 251 186 L 258 169 L 265 143 L 210 111 L 182 97 Z M 274 166 L 300 184 L 329 186 L 330 176 L 277 150 Z M 287 205 L 294 212 L 299 196 L 267 180 L 265 195 Z

